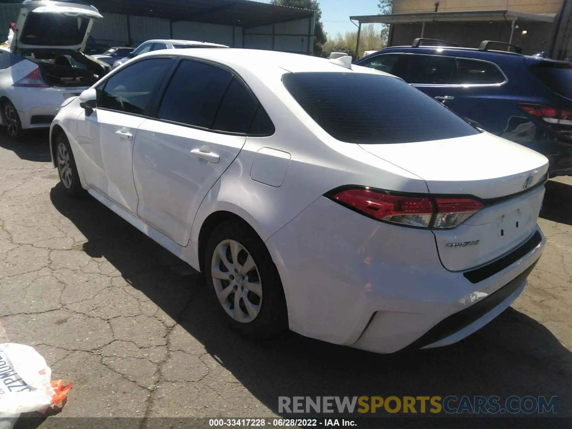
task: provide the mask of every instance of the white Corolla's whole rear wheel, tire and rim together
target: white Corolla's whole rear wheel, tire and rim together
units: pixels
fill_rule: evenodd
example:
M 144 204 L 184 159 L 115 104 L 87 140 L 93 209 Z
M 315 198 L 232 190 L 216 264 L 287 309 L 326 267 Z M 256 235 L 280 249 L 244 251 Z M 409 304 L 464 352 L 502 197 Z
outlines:
M 268 249 L 247 224 L 225 221 L 210 235 L 205 275 L 231 327 L 267 339 L 288 328 L 280 276 Z

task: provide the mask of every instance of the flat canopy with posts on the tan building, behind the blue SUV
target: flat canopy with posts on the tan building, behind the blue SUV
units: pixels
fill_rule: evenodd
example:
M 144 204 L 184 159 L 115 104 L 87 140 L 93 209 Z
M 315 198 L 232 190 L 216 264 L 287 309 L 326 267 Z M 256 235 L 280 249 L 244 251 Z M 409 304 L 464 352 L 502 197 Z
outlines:
M 469 22 L 469 21 L 510 21 L 512 28 L 509 43 L 513 41 L 514 25 L 517 21 L 554 22 L 555 13 L 526 13 L 515 10 L 465 10 L 451 12 L 418 12 L 418 13 L 395 13 L 390 15 L 362 15 L 349 17 L 352 21 L 358 21 L 358 43 L 356 43 L 356 57 L 359 57 L 359 38 L 362 24 L 406 24 L 410 22 L 422 22 L 420 37 L 425 32 L 426 22 Z

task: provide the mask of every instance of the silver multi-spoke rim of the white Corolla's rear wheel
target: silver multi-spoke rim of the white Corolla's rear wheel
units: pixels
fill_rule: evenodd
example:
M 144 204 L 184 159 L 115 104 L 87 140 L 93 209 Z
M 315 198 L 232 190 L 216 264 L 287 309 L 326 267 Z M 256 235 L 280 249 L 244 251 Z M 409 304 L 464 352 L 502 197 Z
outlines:
M 262 304 L 262 284 L 248 250 L 238 241 L 221 241 L 213 253 L 210 273 L 228 315 L 240 323 L 254 320 Z

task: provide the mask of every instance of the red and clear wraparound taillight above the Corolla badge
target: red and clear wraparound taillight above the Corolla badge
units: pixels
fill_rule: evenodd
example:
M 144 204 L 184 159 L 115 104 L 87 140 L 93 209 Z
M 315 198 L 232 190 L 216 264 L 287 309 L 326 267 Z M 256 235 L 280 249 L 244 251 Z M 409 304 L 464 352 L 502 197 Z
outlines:
M 329 198 L 376 220 L 407 227 L 451 229 L 483 208 L 470 198 L 431 198 L 371 188 L 334 191 Z

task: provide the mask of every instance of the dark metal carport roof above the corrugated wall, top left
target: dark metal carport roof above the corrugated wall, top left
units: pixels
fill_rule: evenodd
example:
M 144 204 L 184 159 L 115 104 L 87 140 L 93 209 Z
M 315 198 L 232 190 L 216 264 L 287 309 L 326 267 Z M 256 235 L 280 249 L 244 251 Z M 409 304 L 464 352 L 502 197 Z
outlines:
M 85 0 L 103 13 L 258 27 L 313 17 L 312 10 L 249 0 Z

